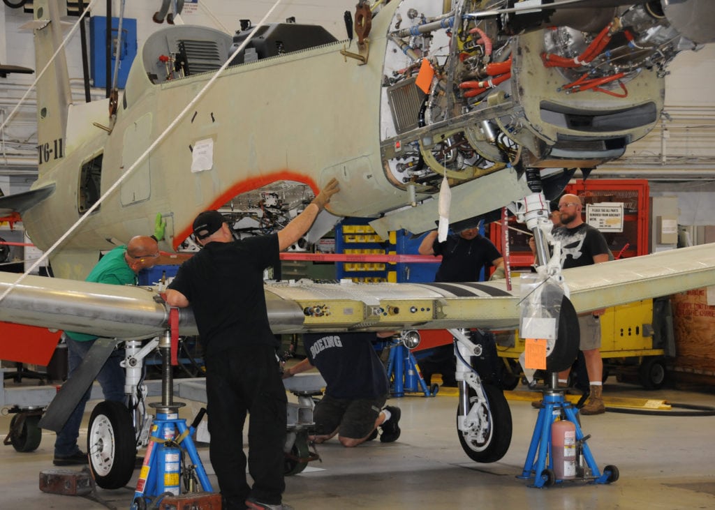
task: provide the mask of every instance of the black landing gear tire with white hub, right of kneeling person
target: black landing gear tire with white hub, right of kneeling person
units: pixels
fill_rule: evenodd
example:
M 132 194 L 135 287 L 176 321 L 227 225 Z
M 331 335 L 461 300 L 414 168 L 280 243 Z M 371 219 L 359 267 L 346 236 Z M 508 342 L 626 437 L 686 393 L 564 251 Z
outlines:
M 496 462 L 501 459 L 511 444 L 511 410 L 501 389 L 483 384 L 488 406 L 478 409 L 479 423 L 476 430 L 457 429 L 459 442 L 465 454 L 475 462 Z M 470 409 L 475 392 L 468 386 Z M 459 420 L 459 410 L 457 411 Z

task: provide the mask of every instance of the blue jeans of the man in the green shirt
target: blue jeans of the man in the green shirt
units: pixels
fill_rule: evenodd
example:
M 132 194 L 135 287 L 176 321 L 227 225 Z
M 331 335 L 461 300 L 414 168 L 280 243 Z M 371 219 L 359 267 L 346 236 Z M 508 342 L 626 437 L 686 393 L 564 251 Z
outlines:
M 76 341 L 64 336 L 67 344 L 67 358 L 69 361 L 69 377 L 72 376 L 75 370 L 82 364 L 82 359 L 87 356 L 87 352 L 92 348 L 94 340 Z M 109 359 L 104 363 L 102 369 L 97 374 L 97 381 L 102 385 L 105 400 L 114 400 L 124 402 L 124 369 L 119 366 L 119 363 L 124 359 L 124 349 L 115 349 Z M 55 456 L 70 456 L 79 451 L 77 446 L 77 437 L 79 436 L 79 426 L 82 424 L 82 415 L 84 414 L 84 406 L 89 400 L 92 393 L 92 386 L 80 399 L 77 407 L 74 408 L 72 414 L 69 415 L 66 424 L 62 430 L 57 433 L 57 439 L 54 441 Z

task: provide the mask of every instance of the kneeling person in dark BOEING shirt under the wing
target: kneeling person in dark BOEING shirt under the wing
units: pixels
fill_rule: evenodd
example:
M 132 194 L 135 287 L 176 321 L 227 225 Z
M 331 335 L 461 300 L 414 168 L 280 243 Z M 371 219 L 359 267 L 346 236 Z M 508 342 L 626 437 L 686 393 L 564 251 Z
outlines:
M 378 333 L 379 338 L 392 332 Z M 283 378 L 315 366 L 325 379 L 325 395 L 315 405 L 316 443 L 335 434 L 348 448 L 371 441 L 390 443 L 400 437 L 400 408 L 386 406 L 389 381 L 373 348 L 374 333 L 305 334 L 307 358 L 286 369 Z

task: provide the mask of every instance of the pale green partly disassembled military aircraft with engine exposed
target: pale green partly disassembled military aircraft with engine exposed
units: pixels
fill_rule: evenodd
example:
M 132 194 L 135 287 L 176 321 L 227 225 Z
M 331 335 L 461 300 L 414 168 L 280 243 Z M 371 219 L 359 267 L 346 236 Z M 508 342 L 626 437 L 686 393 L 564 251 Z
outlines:
M 63 52 L 50 61 L 59 2 L 36 0 L 36 69 L 49 64 L 37 87 L 39 179 L 1 197 L 0 213 L 21 214 L 60 278 L 15 285 L 1 274 L 0 320 L 160 335 L 168 310 L 155 291 L 79 281 L 100 251 L 152 232 L 157 215 L 162 249 L 174 251 L 199 211 L 332 178 L 342 192 L 330 213 L 373 218 L 383 236 L 434 229 L 438 216 L 470 226 L 506 206 L 544 263 L 548 200 L 654 127 L 669 62 L 715 39 L 713 13 L 698 0 L 360 0 L 345 41 L 297 24 L 233 37 L 177 25 L 149 36 L 121 96 L 74 104 Z M 447 188 L 449 203 L 438 199 Z M 688 250 L 563 271 L 572 310 L 715 284 L 714 246 Z M 521 313 L 518 286 L 498 282 L 277 282 L 266 296 L 275 333 L 507 329 Z M 179 327 L 196 333 L 190 310 Z M 561 343 L 573 345 L 556 341 L 551 371 L 568 358 Z M 500 459 L 506 401 L 478 379 L 460 391 L 465 451 Z

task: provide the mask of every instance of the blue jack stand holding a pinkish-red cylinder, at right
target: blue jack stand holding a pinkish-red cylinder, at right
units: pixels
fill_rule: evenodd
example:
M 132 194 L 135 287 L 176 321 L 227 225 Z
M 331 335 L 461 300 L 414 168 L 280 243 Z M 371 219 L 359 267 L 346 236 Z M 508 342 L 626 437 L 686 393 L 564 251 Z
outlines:
M 541 489 L 544 486 L 553 486 L 556 483 L 572 480 L 589 480 L 593 484 L 611 484 L 618 480 L 618 468 L 616 466 L 606 466 L 603 474 L 598 471 L 596 460 L 593 459 L 591 449 L 586 441 L 591 436 L 583 436 L 581 426 L 578 424 L 576 414 L 578 411 L 574 406 L 563 398 L 563 390 L 558 387 L 558 375 L 551 374 L 551 389 L 543 391 L 543 401 L 541 409 L 538 411 L 538 418 L 534 426 L 531 444 L 526 456 L 526 463 L 519 479 L 528 480 L 533 478 L 531 487 Z M 551 447 L 551 425 L 558 416 L 566 416 L 576 426 L 576 478 L 569 480 L 556 479 L 553 471 L 553 450 Z M 538 454 L 537 454 L 538 451 Z M 548 458 L 548 462 L 547 462 Z

